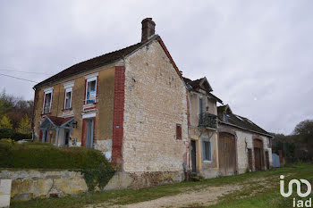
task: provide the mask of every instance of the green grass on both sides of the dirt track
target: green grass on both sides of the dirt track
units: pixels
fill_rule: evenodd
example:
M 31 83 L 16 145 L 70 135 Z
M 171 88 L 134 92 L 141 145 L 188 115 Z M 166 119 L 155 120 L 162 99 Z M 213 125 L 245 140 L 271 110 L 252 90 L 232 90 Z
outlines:
M 36 199 L 29 202 L 13 202 L 11 207 L 64 207 L 77 208 L 86 204 L 105 203 L 134 204 L 157 199 L 163 196 L 174 196 L 188 191 L 201 190 L 205 187 L 244 186 L 238 191 L 219 196 L 217 204 L 210 207 L 292 207 L 292 196 L 283 198 L 279 193 L 279 176 L 285 175 L 285 186 L 290 179 L 313 179 L 312 163 L 294 163 L 285 168 L 271 171 L 250 172 L 231 177 L 206 179 L 199 182 L 182 182 L 159 187 L 148 187 L 140 190 L 114 190 L 102 193 L 67 196 L 64 198 Z M 257 182 L 256 182 L 257 181 Z M 295 192 L 294 192 L 295 193 Z M 313 197 L 313 196 L 311 196 Z M 188 199 L 186 199 L 188 200 Z M 206 207 L 203 204 L 190 204 L 190 207 Z

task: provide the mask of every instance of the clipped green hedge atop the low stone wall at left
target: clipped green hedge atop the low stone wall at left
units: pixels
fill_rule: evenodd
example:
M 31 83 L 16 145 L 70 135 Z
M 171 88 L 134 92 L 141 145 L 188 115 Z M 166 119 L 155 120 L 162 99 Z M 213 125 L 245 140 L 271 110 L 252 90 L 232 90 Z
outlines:
M 85 147 L 58 148 L 47 143 L 17 144 L 10 139 L 0 140 L 0 168 L 21 169 L 97 169 L 111 163 L 95 149 Z

